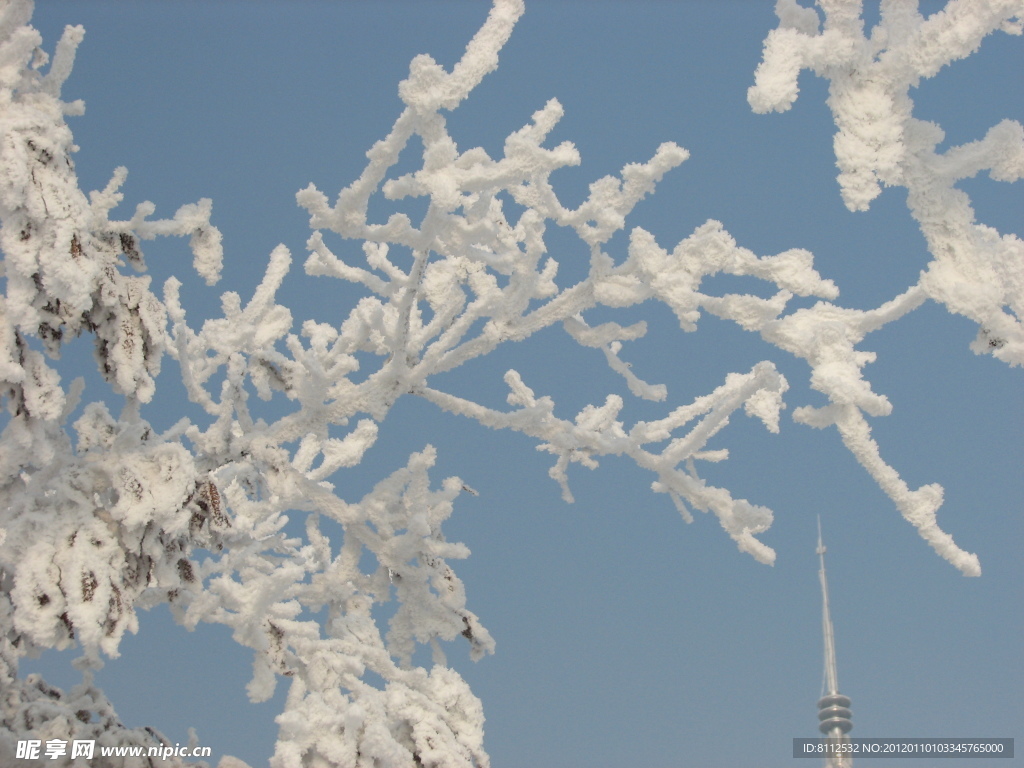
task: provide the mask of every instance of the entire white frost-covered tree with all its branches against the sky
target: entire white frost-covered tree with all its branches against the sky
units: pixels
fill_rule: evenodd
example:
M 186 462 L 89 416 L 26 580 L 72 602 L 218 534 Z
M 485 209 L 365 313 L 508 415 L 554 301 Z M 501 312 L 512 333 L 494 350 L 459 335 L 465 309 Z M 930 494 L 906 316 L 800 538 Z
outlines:
M 645 382 L 628 361 L 628 344 L 644 336 L 645 324 L 595 324 L 594 310 L 662 302 L 684 332 L 710 313 L 759 334 L 766 352 L 806 360 L 811 386 L 828 404 L 797 408 L 796 420 L 835 426 L 922 537 L 966 574 L 979 573 L 978 558 L 938 525 L 942 488 L 911 490 L 882 459 L 865 415 L 892 407 L 862 376 L 873 354 L 861 344 L 936 301 L 977 323 L 974 351 L 1024 361 L 1024 246 L 976 223 L 955 186 L 983 170 L 996 181 L 1018 179 L 1024 131 L 1006 121 L 938 154 L 941 129 L 914 119 L 909 97 L 921 78 L 970 54 L 986 35 L 1020 34 L 1024 6 L 952 0 L 926 18 L 913 0 L 888 0 L 866 36 L 854 0 L 821 0 L 818 10 L 779 0 L 776 10 L 780 26 L 766 41 L 751 105 L 787 109 L 804 68 L 829 80 L 843 199 L 862 210 L 881 185 L 907 188 L 934 258 L 916 284 L 898 287 L 877 308 L 846 308 L 809 252 L 758 256 L 714 220 L 671 250 L 634 227 L 627 252 L 610 252 L 634 206 L 688 154 L 662 144 L 567 208 L 550 177 L 582 159 L 571 143 L 547 145 L 562 115 L 554 99 L 506 139 L 502 157 L 460 152 L 444 114 L 497 67 L 523 11 L 521 0 L 496 0 L 452 72 L 426 55 L 413 60 L 399 85 L 404 110 L 368 153 L 358 179 L 334 202 L 312 186 L 298 194 L 313 229 L 306 273 L 356 284 L 366 296 L 337 327 L 310 321 L 295 329 L 276 302 L 292 261 L 284 246 L 252 297 L 224 293 L 220 316 L 201 324 L 186 315 L 179 282 L 168 281 L 162 297 L 153 292 L 139 274 L 141 243 L 157 237 L 188 237 L 195 268 L 208 284 L 218 281 L 212 204 L 185 205 L 170 219 L 154 219 L 154 207 L 141 205 L 112 219 L 124 169 L 101 191 L 82 193 L 65 122 L 82 104 L 62 101 L 60 91 L 83 30 L 66 31 L 51 62 L 29 25 L 31 2 L 3 5 L 0 756 L 9 762 L 16 740 L 28 737 L 164 743 L 152 729 L 125 727 L 92 674 L 117 655 L 126 631 L 137 631 L 139 609 L 169 602 L 183 625 L 225 625 L 251 649 L 253 700 L 287 679 L 275 768 L 486 766 L 482 707 L 441 645 L 464 638 L 473 658 L 495 648 L 450 564 L 469 551 L 441 532 L 458 497 L 471 492 L 457 477 L 431 478 L 430 445 L 362 499 L 335 487 L 359 471 L 378 424 L 403 396 L 535 438 L 552 456 L 550 474 L 566 501 L 570 465 L 626 457 L 685 519 L 691 510 L 714 514 L 739 550 L 771 563 L 774 552 L 758 536 L 772 512 L 711 485 L 697 466 L 728 458 L 715 440 L 739 411 L 778 431 L 785 379 L 765 360 L 693 402 L 673 402 L 667 387 Z M 422 165 L 398 174 L 398 156 L 414 137 Z M 374 196 L 423 199 L 426 213 L 419 221 L 402 213 L 372 221 Z M 551 225 L 574 231 L 589 250 L 588 273 L 573 285 L 558 280 L 558 254 L 546 246 Z M 335 253 L 325 232 L 361 244 L 361 255 Z M 720 273 L 763 281 L 771 296 L 702 288 Z M 819 301 L 792 309 L 797 296 Z M 507 409 L 437 383 L 552 327 L 603 357 L 616 391 L 565 415 L 515 371 L 505 375 Z M 82 379 L 65 386 L 55 360 L 81 335 L 94 338 L 113 396 L 83 402 Z M 205 418 L 160 432 L 144 416 L 159 401 L 155 377 L 165 357 Z M 665 402 L 664 415 L 626 423 L 627 396 Z M 287 413 L 266 420 L 260 401 Z M 332 538 L 328 530 L 338 528 L 342 536 Z M 373 608 L 388 602 L 396 607 L 382 628 Z M 82 653 L 80 686 L 65 692 L 19 676 L 27 654 L 72 646 Z M 422 648 L 431 656 L 425 666 Z

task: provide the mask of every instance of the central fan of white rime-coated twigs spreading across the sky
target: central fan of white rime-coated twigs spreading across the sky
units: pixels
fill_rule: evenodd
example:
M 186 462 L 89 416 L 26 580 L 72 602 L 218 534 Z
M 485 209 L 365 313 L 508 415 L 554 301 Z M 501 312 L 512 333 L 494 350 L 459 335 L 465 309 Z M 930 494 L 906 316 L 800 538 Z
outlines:
M 724 452 L 705 447 L 738 408 L 777 429 L 785 382 L 771 364 L 761 364 L 745 376 L 730 376 L 713 394 L 673 410 L 663 420 L 632 427 L 616 418 L 623 404 L 617 394 L 609 394 L 602 406 L 585 408 L 574 421 L 559 419 L 552 400 L 538 397 L 514 371 L 506 376 L 511 412 L 428 384 L 433 374 L 561 324 L 578 343 L 601 350 L 633 394 L 664 400 L 666 388 L 640 380 L 621 357 L 624 342 L 642 337 L 646 326 L 591 327 L 585 312 L 656 299 L 669 304 L 685 330 L 695 329 L 701 309 L 753 329 L 777 317 L 794 294 L 837 294 L 835 286 L 814 271 L 806 251 L 758 258 L 738 248 L 716 221 L 701 226 L 671 254 L 649 232 L 636 228 L 628 257 L 616 263 L 603 250 L 605 244 L 625 227 L 626 216 L 662 176 L 687 158 L 671 142 L 659 146 L 647 163 L 626 166 L 621 177 L 594 182 L 577 209 L 562 206 L 550 182 L 553 171 L 581 162 L 568 142 L 544 146 L 562 114 L 554 99 L 506 139 L 504 157 L 492 159 L 479 147 L 460 153 L 440 110 L 458 104 L 494 66 L 497 48 L 485 49 L 482 41 L 502 42 L 519 6 L 496 3 L 487 26 L 451 75 L 429 57 L 414 60 L 410 79 L 399 88 L 404 112 L 390 135 L 368 153 L 367 169 L 334 206 L 312 186 L 298 196 L 313 227 L 365 244 L 370 269 L 343 261 L 319 231 L 309 241 L 312 254 L 306 261 L 310 274 L 359 283 L 375 294 L 349 315 L 337 341 L 332 337 L 332 343 L 345 344 L 345 352 L 386 358 L 358 386 L 364 394 L 356 401 L 381 419 L 396 396 L 412 393 L 486 426 L 537 437 L 557 457 L 551 474 L 567 500 L 569 464 L 593 467 L 601 456 L 630 456 L 656 475 L 654 489 L 669 494 L 684 515 L 689 515 L 686 505 L 714 511 L 740 549 L 771 562 L 774 553 L 755 539 L 768 527 L 771 513 L 733 499 L 725 488 L 707 485 L 694 468 L 694 461 L 724 458 Z M 423 142 L 423 168 L 389 179 L 388 170 L 414 135 Z M 418 224 L 404 214 L 372 223 L 367 217 L 369 200 L 378 190 L 390 200 L 426 198 L 427 213 Z M 525 209 L 516 220 L 506 217 L 507 201 Z M 589 274 L 575 285 L 562 288 L 556 283 L 558 262 L 547 255 L 544 242 L 549 221 L 574 229 L 590 249 Z M 393 259 L 395 247 L 411 252 L 408 268 Z M 701 293 L 701 281 L 720 272 L 760 278 L 774 284 L 777 292 L 770 299 Z M 321 365 L 326 368 L 332 360 Z M 689 432 L 680 433 L 698 419 Z M 650 443 L 668 444 L 652 453 L 644 447 Z

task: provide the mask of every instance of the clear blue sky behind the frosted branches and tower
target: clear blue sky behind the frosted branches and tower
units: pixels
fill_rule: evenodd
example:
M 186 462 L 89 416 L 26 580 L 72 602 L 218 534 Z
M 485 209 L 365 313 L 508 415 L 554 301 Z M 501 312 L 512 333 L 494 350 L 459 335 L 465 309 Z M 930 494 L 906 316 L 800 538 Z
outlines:
M 551 143 L 573 141 L 583 164 L 553 181 L 573 204 L 591 181 L 676 141 L 690 160 L 631 224 L 669 248 L 709 218 L 759 255 L 807 248 L 839 285 L 840 303 L 877 306 L 916 280 L 928 261 L 924 239 L 902 190 L 886 190 L 867 213 L 843 207 L 821 81 L 802 75 L 786 114 L 752 114 L 745 93 L 776 25 L 772 5 L 527 0 L 500 69 L 451 116 L 453 136 L 460 148 L 479 144 L 497 157 L 505 136 L 557 97 L 565 117 Z M 221 291 L 251 295 L 284 243 L 297 264 L 279 301 L 298 324 L 340 322 L 356 294 L 302 273 L 309 231 L 295 193 L 313 182 L 333 196 L 354 179 L 401 110 L 396 89 L 409 60 L 429 52 L 450 68 L 486 10 L 468 0 L 44 0 L 34 24 L 49 50 L 63 25 L 86 28 L 63 90 L 87 106 L 69 119 L 82 188 L 102 188 L 124 165 L 124 218 L 142 200 L 164 215 L 214 201 L 225 247 L 220 285 L 195 279 L 185 244 L 174 242 L 146 251 L 156 284 L 184 280 L 195 322 L 217 311 Z M 989 37 L 978 54 L 922 83 L 916 115 L 939 122 L 949 145 L 980 138 L 1004 118 L 1024 119 L 1022 51 L 1019 38 Z M 1020 231 L 1020 184 L 986 176 L 965 188 L 980 221 Z M 383 218 L 389 205 L 371 210 Z M 616 236 L 609 252 L 623 258 L 625 242 Z M 566 284 L 582 274 L 579 244 L 555 238 L 550 247 Z M 566 505 L 547 475 L 550 457 L 528 440 L 412 398 L 395 407 L 364 465 L 337 482 L 357 499 L 430 442 L 439 453 L 435 477 L 458 474 L 479 492 L 460 498 L 445 531 L 472 550 L 453 565 L 497 653 L 473 664 L 455 643 L 447 654 L 483 701 L 495 768 L 816 765 L 792 758 L 794 737 L 816 735 L 821 685 L 816 515 L 828 547 L 840 688 L 853 699 L 851 735 L 1013 736 L 1024 751 L 1020 372 L 974 355 L 976 329 L 935 305 L 862 345 L 879 354 L 865 376 L 895 407 L 872 420 L 874 435 L 912 487 L 945 486 L 939 521 L 981 559 L 983 575 L 967 579 L 899 516 L 834 430 L 792 421 L 794 408 L 821 404 L 802 361 L 714 317 L 683 334 L 664 307 L 636 314 L 652 330 L 629 359 L 641 378 L 667 384 L 672 401 L 708 393 L 760 359 L 787 377 L 781 434 L 739 417 L 714 445 L 729 447 L 730 460 L 706 471 L 775 511 L 762 537 L 778 553 L 774 566 L 738 552 L 711 516 L 684 523 L 666 496 L 650 492 L 649 475 L 626 462 L 575 468 L 577 501 Z M 502 374 L 516 368 L 567 417 L 622 390 L 603 356 L 589 352 L 560 332 L 542 334 L 466 369 L 461 386 L 500 402 Z M 70 366 L 85 359 L 76 354 Z M 158 425 L 193 413 L 175 375 L 165 359 L 163 404 L 144 414 Z M 658 413 L 629 408 L 631 418 Z M 215 759 L 265 765 L 286 687 L 252 706 L 251 657 L 222 628 L 187 633 L 163 610 L 140 623 L 99 674 L 122 718 L 182 742 L 195 725 Z M 60 664 L 47 656 L 26 669 L 70 685 Z

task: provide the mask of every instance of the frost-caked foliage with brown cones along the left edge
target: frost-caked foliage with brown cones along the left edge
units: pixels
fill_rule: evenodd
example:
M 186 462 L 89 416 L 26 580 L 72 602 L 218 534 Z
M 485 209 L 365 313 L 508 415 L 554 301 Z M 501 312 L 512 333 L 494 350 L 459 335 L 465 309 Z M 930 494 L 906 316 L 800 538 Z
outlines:
M 198 588 L 188 552 L 212 546 L 217 522 L 201 497 L 211 488 L 173 436 L 155 435 L 139 417 L 153 397 L 166 347 L 165 309 L 150 292 L 140 242 L 189 236 L 196 266 L 213 281 L 220 234 L 210 202 L 153 221 L 153 206 L 112 221 L 123 168 L 89 198 L 79 189 L 77 148 L 60 100 L 81 28 L 68 28 L 52 65 L 28 26 L 29 2 L 0 8 L 0 756 L 29 734 L 93 738 L 101 745 L 168 743 L 131 730 L 91 685 L 99 654 L 117 655 L 135 608 Z M 115 420 L 93 402 L 67 422 L 83 392 L 66 391 L 50 360 L 82 334 L 95 340 L 99 373 L 126 407 Z M 18 658 L 40 648 L 81 646 L 81 686 L 65 694 L 34 676 L 17 677 Z M 7 752 L 10 751 L 8 759 Z

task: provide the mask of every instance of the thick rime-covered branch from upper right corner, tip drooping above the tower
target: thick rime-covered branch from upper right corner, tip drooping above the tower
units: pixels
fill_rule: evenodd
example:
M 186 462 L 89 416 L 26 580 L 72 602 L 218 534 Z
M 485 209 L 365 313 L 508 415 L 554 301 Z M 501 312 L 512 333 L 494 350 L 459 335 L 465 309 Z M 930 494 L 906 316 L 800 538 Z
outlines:
M 944 153 L 942 129 L 913 118 L 910 89 L 922 78 L 978 49 L 996 31 L 1020 35 L 1024 3 L 951 0 L 929 17 L 912 0 L 883 0 L 882 17 L 865 36 L 860 0 L 821 0 L 818 13 L 796 0 L 778 0 L 779 27 L 765 41 L 749 100 L 756 112 L 785 111 L 797 98 L 803 69 L 829 81 L 836 120 L 836 160 L 843 200 L 866 210 L 881 186 L 907 190 L 932 261 L 913 286 L 867 311 L 819 305 L 775 324 L 768 341 L 811 365 L 812 386 L 828 396 L 824 409 L 800 409 L 798 421 L 835 424 L 847 447 L 935 550 L 969 575 L 978 558 L 961 550 L 936 521 L 942 487 L 910 490 L 880 455 L 863 414 L 883 416 L 891 406 L 860 378 L 873 353 L 855 349 L 867 333 L 931 299 L 978 325 L 972 349 L 1011 366 L 1024 364 L 1024 243 L 975 221 L 970 199 L 955 184 L 987 170 L 995 181 L 1024 174 L 1024 128 L 1005 120 L 984 138 Z

